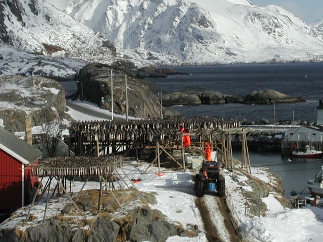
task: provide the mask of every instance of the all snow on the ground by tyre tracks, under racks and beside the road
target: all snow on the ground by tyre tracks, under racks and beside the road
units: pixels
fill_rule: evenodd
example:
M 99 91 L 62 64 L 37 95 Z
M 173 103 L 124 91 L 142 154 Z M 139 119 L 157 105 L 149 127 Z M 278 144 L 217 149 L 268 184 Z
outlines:
M 79 103 L 79 105 L 89 105 L 87 103 Z M 91 105 L 90 105 L 91 106 Z M 91 108 L 96 108 L 91 106 Z M 83 114 L 69 108 L 69 114 L 76 120 L 97 120 L 97 118 L 90 116 L 83 116 Z M 104 110 L 102 110 L 104 111 Z M 106 111 L 104 111 L 106 112 Z M 167 241 L 207 241 L 203 228 L 203 221 L 201 219 L 198 207 L 194 200 L 194 173 L 193 171 L 169 171 L 161 169 L 161 176 L 157 175 L 158 169 L 150 167 L 146 174 L 142 174 L 148 164 L 141 163 L 139 166 L 128 164 L 123 167 L 123 171 L 128 174 L 129 178 L 138 179 L 140 183 L 135 184 L 136 188 L 143 192 L 155 193 L 157 204 L 150 205 L 153 209 L 158 209 L 163 212 L 169 221 L 177 223 L 180 222 L 185 226 L 187 224 L 197 224 L 199 227 L 198 237 L 170 237 Z M 119 173 L 123 173 L 122 170 Z M 274 176 L 262 168 L 252 168 L 252 175 L 261 179 L 268 184 L 275 183 Z M 240 230 L 245 234 L 247 241 L 273 241 L 273 242 L 320 242 L 322 241 L 322 225 L 323 225 L 323 210 L 317 207 L 303 207 L 300 209 L 284 208 L 275 198 L 277 194 L 270 193 L 262 201 L 267 205 L 266 216 L 255 217 L 248 213 L 245 207 L 246 199 L 242 196 L 242 191 L 251 191 L 252 188 L 246 185 L 247 177 L 242 173 L 235 173 L 235 179 L 232 179 L 232 172 L 223 170 L 226 179 L 226 199 L 229 208 L 232 211 Z M 123 177 L 125 180 L 127 178 Z M 44 181 L 43 181 L 44 183 Z M 132 184 L 128 180 L 128 184 Z M 77 192 L 80 190 L 83 183 L 75 181 L 72 183 L 72 190 Z M 52 185 L 55 186 L 55 185 Z M 118 187 L 119 185 L 116 185 Z M 98 183 L 91 181 L 87 183 L 85 189 L 98 189 Z M 63 201 L 68 201 L 62 198 Z M 204 200 L 209 204 L 211 211 L 210 218 L 213 224 L 219 224 L 219 211 L 216 200 L 211 195 L 205 195 Z M 56 199 L 55 199 L 56 201 Z M 62 203 L 63 204 L 63 203 Z M 63 205 L 51 202 L 47 211 L 48 216 L 53 216 L 60 213 Z M 38 209 L 37 209 L 38 208 Z M 28 207 L 17 211 L 21 214 L 24 210 L 26 213 Z M 36 210 L 37 209 L 37 210 Z M 32 214 L 37 215 L 38 220 L 42 220 L 44 211 L 44 201 L 33 208 Z M 18 225 L 22 218 L 15 218 L 11 221 L 7 220 L 0 228 L 7 226 Z M 33 221 L 35 222 L 35 221 Z M 23 228 L 23 227 L 22 227 Z M 224 227 L 218 228 L 219 234 L 223 241 L 230 241 Z

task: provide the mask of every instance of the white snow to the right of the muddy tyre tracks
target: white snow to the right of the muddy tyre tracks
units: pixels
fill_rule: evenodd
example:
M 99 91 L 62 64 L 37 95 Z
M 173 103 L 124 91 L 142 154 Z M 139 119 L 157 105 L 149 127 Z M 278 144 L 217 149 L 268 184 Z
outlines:
M 257 178 L 271 184 L 274 177 L 265 170 L 252 170 Z M 238 181 L 245 180 L 245 177 L 236 176 Z M 242 184 L 240 182 L 240 184 Z M 248 214 L 245 209 L 246 199 L 242 196 L 242 187 L 234 182 L 231 176 L 226 176 L 227 202 L 233 211 L 240 229 L 250 241 L 322 241 L 323 210 L 317 207 L 303 207 L 300 209 L 284 208 L 275 198 L 274 193 L 270 193 L 262 201 L 267 205 L 266 216 L 254 217 Z

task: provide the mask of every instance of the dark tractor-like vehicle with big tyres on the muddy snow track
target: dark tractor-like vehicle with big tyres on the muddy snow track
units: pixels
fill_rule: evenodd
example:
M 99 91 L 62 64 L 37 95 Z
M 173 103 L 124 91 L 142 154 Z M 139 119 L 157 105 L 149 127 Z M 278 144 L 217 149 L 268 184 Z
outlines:
M 195 191 L 197 197 L 203 197 L 206 191 L 215 192 L 218 196 L 225 195 L 226 183 L 220 172 L 217 161 L 204 161 L 199 173 L 195 175 Z

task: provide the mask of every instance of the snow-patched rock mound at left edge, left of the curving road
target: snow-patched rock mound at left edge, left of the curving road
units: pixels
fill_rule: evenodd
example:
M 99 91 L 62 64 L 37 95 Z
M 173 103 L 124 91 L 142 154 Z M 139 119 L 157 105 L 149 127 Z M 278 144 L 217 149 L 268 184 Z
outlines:
M 25 115 L 32 126 L 39 126 L 66 115 L 65 90 L 57 82 L 43 77 L 0 77 L 0 118 L 7 130 L 24 131 Z

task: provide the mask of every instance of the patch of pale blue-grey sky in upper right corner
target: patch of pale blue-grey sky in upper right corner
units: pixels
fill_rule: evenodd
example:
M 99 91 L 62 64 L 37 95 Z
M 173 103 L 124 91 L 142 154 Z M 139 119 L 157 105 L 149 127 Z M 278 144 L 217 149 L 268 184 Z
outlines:
M 323 19 L 323 0 L 251 0 L 257 6 L 277 5 L 306 23 Z

